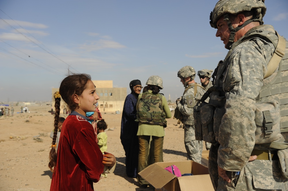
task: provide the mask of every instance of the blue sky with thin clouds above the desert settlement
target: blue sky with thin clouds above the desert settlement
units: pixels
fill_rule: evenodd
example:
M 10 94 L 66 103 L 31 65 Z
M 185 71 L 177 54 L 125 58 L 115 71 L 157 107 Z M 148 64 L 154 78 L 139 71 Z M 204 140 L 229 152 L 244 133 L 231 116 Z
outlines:
M 160 92 L 175 100 L 184 91 L 181 67 L 215 69 L 227 53 L 209 24 L 216 3 L 1 0 L 0 102 L 51 100 L 68 68 L 127 93 L 131 80 L 144 86 L 158 75 Z M 288 1 L 265 4 L 264 24 L 288 38 Z

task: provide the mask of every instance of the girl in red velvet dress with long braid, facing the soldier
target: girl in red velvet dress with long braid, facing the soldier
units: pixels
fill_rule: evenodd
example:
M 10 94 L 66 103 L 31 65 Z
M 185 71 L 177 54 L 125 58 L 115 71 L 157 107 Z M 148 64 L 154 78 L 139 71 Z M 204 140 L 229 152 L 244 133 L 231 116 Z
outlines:
M 53 137 L 48 163 L 53 172 L 50 191 L 93 191 L 93 182 L 98 182 L 103 172 L 113 172 L 116 164 L 114 155 L 102 154 L 86 117 L 86 112 L 96 110 L 99 97 L 95 85 L 88 74 L 69 75 L 62 80 L 54 98 L 54 134 L 58 131 L 61 98 L 71 114 L 63 123 L 57 153 L 56 137 Z

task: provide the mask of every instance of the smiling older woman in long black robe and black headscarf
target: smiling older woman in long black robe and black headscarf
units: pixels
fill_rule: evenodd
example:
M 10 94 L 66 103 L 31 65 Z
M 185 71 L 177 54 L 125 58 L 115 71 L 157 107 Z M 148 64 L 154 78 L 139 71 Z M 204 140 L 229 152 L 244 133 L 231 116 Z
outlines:
M 137 136 L 139 122 L 137 119 L 137 99 L 141 93 L 140 80 L 132 80 L 129 83 L 131 93 L 127 95 L 122 111 L 120 139 L 125 151 L 126 174 L 130 178 L 137 177 L 139 140 Z

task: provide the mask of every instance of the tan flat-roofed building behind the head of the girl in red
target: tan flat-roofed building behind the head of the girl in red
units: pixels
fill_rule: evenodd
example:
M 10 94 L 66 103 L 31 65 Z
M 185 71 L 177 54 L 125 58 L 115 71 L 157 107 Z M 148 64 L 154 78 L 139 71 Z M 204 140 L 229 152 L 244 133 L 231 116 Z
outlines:
M 96 86 L 96 92 L 100 99 L 98 100 L 99 110 L 101 113 L 119 113 L 122 112 L 125 98 L 127 96 L 127 88 L 113 88 L 112 80 L 92 80 Z M 59 88 L 52 88 L 52 95 L 59 91 Z M 54 100 L 52 100 L 53 110 Z M 64 101 L 61 99 L 60 113 L 63 113 Z

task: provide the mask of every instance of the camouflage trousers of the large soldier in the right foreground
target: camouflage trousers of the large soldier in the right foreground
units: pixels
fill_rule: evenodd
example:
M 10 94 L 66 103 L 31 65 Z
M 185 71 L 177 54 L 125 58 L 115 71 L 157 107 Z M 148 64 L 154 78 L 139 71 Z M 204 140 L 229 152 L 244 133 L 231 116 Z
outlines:
M 215 150 L 215 148 L 217 150 Z M 247 163 L 235 182 L 235 172 L 226 171 L 232 180 L 226 182 L 223 178 L 218 178 L 217 167 L 218 145 L 212 145 L 209 153 L 209 174 L 215 191 L 230 190 L 288 190 L 288 179 L 285 179 L 280 171 L 278 160 L 254 160 Z M 235 186 L 236 183 L 236 186 Z

